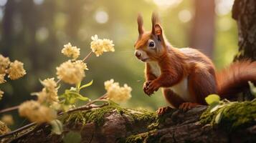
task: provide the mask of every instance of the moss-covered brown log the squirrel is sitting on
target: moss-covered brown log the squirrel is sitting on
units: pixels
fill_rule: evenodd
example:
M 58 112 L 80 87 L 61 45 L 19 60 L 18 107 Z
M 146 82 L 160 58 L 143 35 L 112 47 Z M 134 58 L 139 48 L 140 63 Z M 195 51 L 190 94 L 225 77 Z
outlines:
M 216 124 L 214 117 L 222 108 L 222 120 Z M 64 132 L 60 135 L 51 134 L 49 125 L 44 125 L 29 134 L 26 130 L 19 132 L 16 134 L 18 139 L 4 139 L 11 142 L 42 142 L 39 139 L 63 142 L 66 134 L 77 132 L 82 142 L 232 142 L 235 139 L 255 142 L 256 102 L 232 102 L 222 108 L 212 113 L 206 106 L 187 112 L 173 109 L 158 117 L 155 112 L 145 109 L 125 109 L 118 104 L 109 104 L 62 114 Z

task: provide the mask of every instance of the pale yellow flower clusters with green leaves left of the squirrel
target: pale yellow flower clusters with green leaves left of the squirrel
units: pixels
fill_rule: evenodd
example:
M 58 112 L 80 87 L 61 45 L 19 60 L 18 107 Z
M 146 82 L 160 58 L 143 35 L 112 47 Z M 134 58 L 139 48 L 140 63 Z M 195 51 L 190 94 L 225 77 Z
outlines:
M 51 124 L 52 133 L 62 134 L 62 122 L 57 119 L 57 115 L 59 113 L 65 114 L 65 112 L 69 112 L 70 109 L 75 109 L 77 100 L 88 102 L 87 105 L 93 104 L 93 102 L 90 102 L 88 97 L 84 97 L 82 94 L 80 94 L 81 89 L 90 87 L 90 85 L 93 84 L 92 80 L 87 84 L 81 85 L 82 79 L 85 77 L 85 70 L 88 70 L 85 60 L 88 59 L 92 53 L 95 53 L 96 56 L 100 56 L 103 54 L 103 52 L 115 51 L 115 49 L 113 41 L 109 39 L 98 39 L 97 35 L 92 36 L 92 39 L 92 51 L 90 51 L 90 53 L 87 54 L 87 56 L 85 56 L 85 58 L 82 60 L 77 60 L 77 58 L 80 56 L 80 49 L 77 48 L 77 46 L 72 46 L 70 43 L 64 45 L 62 54 L 72 59 L 65 61 L 64 63 L 60 64 L 60 66 L 57 66 L 56 74 L 57 79 L 59 80 L 57 82 L 54 81 L 54 78 L 47 78 L 43 81 L 40 80 L 41 84 L 43 85 L 42 91 L 32 93 L 32 95 L 37 96 L 37 100 L 23 102 L 19 106 L 20 116 L 27 117 L 30 121 L 36 122 L 37 124 L 47 122 Z M 5 58 L 4 56 L 0 55 L 0 64 L 6 64 L 6 59 L 9 60 L 9 58 Z M 8 71 L 8 74 L 11 75 L 11 79 L 17 79 L 26 74 L 21 62 L 14 61 L 14 64 L 11 62 L 8 63 L 10 66 L 7 64 L 3 67 L 4 69 L 1 68 L 1 71 Z M 4 73 L 4 76 L 5 74 L 6 73 Z M 4 80 L 4 76 L 1 76 L 1 83 L 6 82 Z M 60 82 L 75 84 L 75 87 L 65 89 L 63 94 L 58 95 L 57 92 L 61 88 L 61 85 L 58 85 Z M 110 99 L 118 99 L 120 102 L 125 102 L 131 98 L 131 87 L 128 87 L 127 84 L 124 84 L 124 87 L 120 87 L 118 82 L 108 82 L 108 85 L 106 86 L 108 88 L 105 87 L 107 90 L 105 96 L 95 101 L 107 101 L 108 104 L 115 105 L 115 103 L 110 101 Z M 108 112 L 110 109 L 111 108 L 108 108 L 105 112 Z M 90 112 L 87 119 L 89 122 L 93 122 L 90 119 L 94 119 L 97 124 L 100 124 L 105 112 Z

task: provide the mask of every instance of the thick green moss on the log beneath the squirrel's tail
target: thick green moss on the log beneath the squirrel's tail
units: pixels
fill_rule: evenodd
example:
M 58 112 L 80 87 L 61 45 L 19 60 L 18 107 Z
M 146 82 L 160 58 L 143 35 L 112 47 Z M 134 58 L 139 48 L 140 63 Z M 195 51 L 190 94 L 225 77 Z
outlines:
M 222 117 L 219 124 L 217 124 L 215 118 L 219 112 L 222 112 Z M 251 102 L 232 102 L 212 113 L 207 109 L 207 111 L 202 114 L 200 122 L 202 124 L 212 124 L 213 126 L 232 131 L 256 124 L 255 119 L 256 100 Z

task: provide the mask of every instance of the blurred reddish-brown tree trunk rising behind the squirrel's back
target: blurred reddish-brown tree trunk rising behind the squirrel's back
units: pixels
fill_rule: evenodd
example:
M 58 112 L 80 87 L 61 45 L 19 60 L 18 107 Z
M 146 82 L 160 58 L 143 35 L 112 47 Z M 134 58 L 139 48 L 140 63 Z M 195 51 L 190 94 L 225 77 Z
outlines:
M 203 51 L 212 58 L 214 49 L 214 0 L 194 0 L 195 15 L 190 34 L 192 48 Z

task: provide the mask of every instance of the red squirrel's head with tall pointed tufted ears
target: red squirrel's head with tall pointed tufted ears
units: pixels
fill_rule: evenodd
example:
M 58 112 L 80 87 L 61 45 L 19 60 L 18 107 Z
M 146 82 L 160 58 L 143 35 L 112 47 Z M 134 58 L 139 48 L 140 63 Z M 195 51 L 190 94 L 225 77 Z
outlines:
M 136 49 L 135 55 L 138 59 L 144 62 L 158 61 L 167 50 L 166 43 L 168 41 L 163 34 L 158 15 L 153 13 L 151 20 L 151 31 L 144 31 L 142 16 L 141 14 L 138 14 L 138 40 L 134 45 Z

